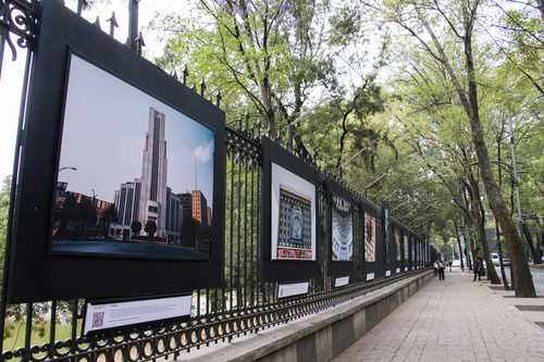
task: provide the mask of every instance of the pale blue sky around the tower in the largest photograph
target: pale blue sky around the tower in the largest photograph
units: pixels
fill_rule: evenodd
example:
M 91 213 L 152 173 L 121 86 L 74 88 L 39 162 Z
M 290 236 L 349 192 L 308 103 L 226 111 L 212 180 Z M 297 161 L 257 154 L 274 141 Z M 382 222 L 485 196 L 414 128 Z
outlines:
M 71 60 L 59 163 L 76 171 L 61 171 L 59 180 L 71 191 L 94 191 L 112 202 L 122 183 L 141 177 L 150 108 L 165 115 L 166 185 L 175 194 L 199 189 L 211 207 L 212 130 L 76 55 Z

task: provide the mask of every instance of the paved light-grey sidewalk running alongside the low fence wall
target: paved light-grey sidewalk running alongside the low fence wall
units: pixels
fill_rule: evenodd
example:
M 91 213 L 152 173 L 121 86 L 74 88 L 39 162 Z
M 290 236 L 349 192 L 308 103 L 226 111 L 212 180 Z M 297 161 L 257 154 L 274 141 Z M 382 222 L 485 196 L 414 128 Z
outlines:
M 446 272 L 445 282 L 431 280 L 333 361 L 544 361 L 544 329 L 527 317 L 541 313 L 514 307 L 544 305 L 544 298 L 495 291 Z

